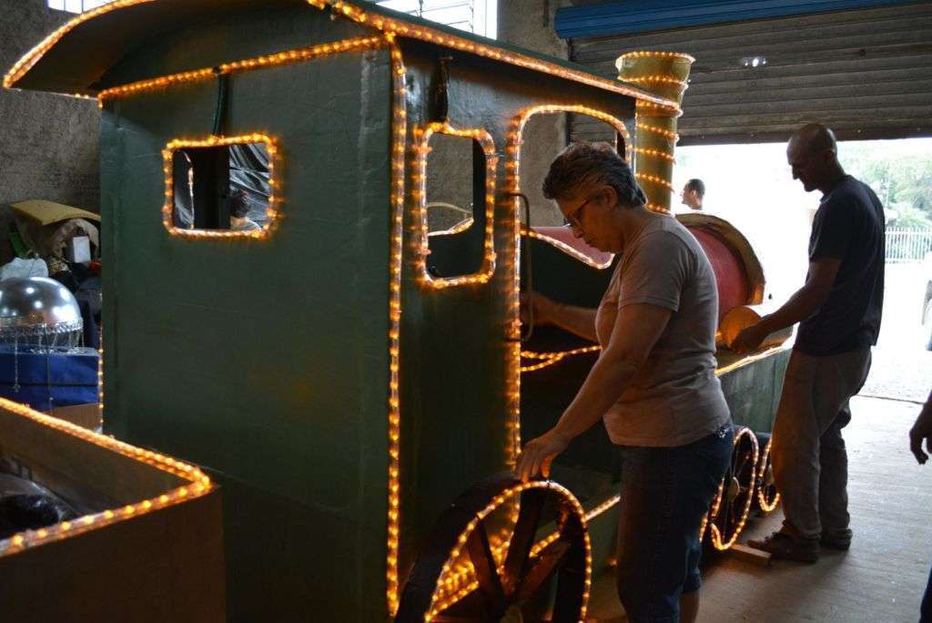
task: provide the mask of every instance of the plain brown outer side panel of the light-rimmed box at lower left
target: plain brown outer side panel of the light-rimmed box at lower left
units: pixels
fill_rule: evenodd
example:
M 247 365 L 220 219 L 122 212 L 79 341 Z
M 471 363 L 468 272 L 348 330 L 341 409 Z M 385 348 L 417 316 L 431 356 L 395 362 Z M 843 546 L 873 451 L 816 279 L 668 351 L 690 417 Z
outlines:
M 212 491 L 0 557 L 0 618 L 225 620 L 220 504 Z

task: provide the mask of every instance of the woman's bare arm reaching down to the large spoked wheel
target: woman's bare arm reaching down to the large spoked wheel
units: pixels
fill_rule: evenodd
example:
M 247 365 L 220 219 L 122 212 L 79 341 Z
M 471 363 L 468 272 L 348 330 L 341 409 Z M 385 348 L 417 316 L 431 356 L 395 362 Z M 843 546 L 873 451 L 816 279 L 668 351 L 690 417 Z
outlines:
M 672 311 L 650 303 L 626 305 L 615 316 L 608 346 L 589 371 L 583 387 L 547 433 L 528 441 L 515 472 L 527 480 L 540 472 L 550 475 L 555 456 L 615 404 L 663 334 Z

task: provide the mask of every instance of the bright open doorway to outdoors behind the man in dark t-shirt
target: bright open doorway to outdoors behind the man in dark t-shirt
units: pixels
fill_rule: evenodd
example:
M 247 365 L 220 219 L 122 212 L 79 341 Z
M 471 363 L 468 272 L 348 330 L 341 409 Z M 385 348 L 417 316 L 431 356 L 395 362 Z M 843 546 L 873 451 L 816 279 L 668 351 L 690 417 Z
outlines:
M 793 180 L 786 145 L 695 145 L 677 149 L 682 188 L 706 186 L 703 210 L 732 221 L 758 251 L 765 297 L 785 301 L 805 279 L 812 217 L 821 194 Z M 874 189 L 886 211 L 884 320 L 862 395 L 924 402 L 932 387 L 932 138 L 844 141 L 846 173 Z M 678 204 L 677 211 L 689 207 Z

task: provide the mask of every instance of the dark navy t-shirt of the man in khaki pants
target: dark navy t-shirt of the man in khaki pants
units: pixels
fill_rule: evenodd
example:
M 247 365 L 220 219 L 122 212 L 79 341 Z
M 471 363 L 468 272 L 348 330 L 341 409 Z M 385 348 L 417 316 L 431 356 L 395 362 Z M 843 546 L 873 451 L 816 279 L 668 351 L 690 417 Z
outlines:
M 794 348 L 839 354 L 877 343 L 884 308 L 884 207 L 866 184 L 845 175 L 822 198 L 809 238 L 809 260 L 842 264 L 829 299 L 800 323 Z

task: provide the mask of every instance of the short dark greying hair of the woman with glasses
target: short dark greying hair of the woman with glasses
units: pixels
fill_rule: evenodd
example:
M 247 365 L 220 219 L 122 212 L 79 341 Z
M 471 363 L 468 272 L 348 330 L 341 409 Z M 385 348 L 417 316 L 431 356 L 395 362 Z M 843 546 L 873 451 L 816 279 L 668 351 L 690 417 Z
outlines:
M 615 189 L 622 207 L 647 203 L 631 167 L 608 143 L 570 143 L 550 164 L 543 196 L 562 199 L 582 195 L 581 188 L 605 184 Z

